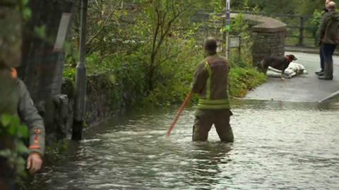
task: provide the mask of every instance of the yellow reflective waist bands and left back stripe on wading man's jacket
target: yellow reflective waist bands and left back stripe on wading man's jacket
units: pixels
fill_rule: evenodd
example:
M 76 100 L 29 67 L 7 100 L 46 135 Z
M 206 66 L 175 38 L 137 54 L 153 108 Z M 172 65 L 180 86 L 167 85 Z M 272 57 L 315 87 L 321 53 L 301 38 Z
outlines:
M 211 99 L 211 91 L 212 91 L 212 68 L 210 68 L 210 64 L 206 61 L 205 68 L 208 72 L 208 79 L 206 80 L 206 98 L 199 99 L 198 101 L 198 109 L 229 109 L 230 108 L 230 100 L 229 99 Z M 227 85 L 227 84 L 225 84 Z

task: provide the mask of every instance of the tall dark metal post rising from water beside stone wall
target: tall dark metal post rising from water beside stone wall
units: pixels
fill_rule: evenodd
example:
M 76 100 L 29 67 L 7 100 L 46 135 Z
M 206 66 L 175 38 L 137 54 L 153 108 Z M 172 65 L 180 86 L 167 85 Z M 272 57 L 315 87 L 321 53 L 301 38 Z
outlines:
M 76 99 L 74 103 L 74 117 L 72 139 L 81 140 L 83 136 L 83 120 L 85 113 L 86 95 L 86 67 L 85 67 L 85 34 L 88 0 L 81 1 L 81 30 L 80 30 L 80 62 L 76 65 Z

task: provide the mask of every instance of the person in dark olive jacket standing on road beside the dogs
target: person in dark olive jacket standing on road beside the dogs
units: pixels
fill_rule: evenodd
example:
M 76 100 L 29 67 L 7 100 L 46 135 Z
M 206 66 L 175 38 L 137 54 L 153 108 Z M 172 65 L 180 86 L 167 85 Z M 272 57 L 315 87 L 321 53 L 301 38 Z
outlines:
M 323 14 L 320 25 L 321 57 L 323 58 L 323 75 L 320 80 L 333 80 L 333 53 L 339 44 L 339 13 L 335 11 L 335 2 L 326 4 L 327 13 Z

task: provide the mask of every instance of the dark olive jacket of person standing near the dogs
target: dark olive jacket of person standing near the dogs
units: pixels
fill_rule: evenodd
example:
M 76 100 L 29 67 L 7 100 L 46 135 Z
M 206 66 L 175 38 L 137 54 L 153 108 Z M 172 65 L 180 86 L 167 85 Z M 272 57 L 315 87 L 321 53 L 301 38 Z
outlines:
M 328 11 L 321 17 L 319 34 L 323 44 L 339 44 L 339 13 Z

